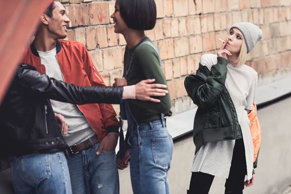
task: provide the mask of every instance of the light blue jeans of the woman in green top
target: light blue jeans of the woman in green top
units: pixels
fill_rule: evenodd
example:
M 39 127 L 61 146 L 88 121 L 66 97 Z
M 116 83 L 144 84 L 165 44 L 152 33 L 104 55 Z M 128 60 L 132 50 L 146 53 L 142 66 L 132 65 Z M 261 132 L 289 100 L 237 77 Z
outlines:
M 173 140 L 165 123 L 156 120 L 133 126 L 130 146 L 130 178 L 134 194 L 170 194 L 168 171 Z

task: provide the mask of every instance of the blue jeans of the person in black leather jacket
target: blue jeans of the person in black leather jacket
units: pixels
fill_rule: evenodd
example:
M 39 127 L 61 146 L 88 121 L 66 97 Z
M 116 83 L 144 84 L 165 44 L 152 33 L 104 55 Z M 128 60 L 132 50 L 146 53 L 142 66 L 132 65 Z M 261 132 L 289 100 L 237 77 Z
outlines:
M 11 178 L 16 194 L 72 194 L 64 152 L 14 157 Z

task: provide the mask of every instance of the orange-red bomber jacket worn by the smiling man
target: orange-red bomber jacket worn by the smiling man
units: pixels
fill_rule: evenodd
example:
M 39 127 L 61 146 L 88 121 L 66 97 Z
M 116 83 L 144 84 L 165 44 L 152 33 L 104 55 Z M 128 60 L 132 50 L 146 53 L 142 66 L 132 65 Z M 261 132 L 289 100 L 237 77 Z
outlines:
M 106 86 L 82 43 L 58 40 L 56 49 L 56 57 L 65 82 L 78 86 Z M 41 64 L 41 59 L 33 43 L 25 50 L 22 63 L 34 66 L 40 73 L 46 73 L 46 67 Z M 77 106 L 96 131 L 99 142 L 110 132 L 118 133 L 119 125 L 112 105 L 84 104 Z

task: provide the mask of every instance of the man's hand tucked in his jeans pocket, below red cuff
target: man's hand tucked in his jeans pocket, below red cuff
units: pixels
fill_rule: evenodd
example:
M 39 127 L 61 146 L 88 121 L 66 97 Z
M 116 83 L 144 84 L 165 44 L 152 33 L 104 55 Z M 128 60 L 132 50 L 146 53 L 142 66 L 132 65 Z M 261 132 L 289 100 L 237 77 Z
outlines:
M 118 135 L 115 133 L 110 133 L 103 138 L 100 143 L 100 146 L 96 152 L 97 155 L 100 155 L 102 150 L 111 152 L 115 149 L 118 141 Z

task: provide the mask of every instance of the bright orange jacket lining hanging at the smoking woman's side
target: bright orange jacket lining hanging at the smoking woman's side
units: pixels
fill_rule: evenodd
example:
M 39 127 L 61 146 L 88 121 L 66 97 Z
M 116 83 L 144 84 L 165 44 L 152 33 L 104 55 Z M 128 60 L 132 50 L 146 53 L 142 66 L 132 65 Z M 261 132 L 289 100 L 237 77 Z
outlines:
M 261 143 L 261 130 L 260 130 L 260 126 L 259 126 L 259 120 L 257 117 L 257 106 L 254 103 L 253 105 L 253 110 L 251 111 L 251 113 L 248 114 L 248 117 L 250 119 L 250 123 L 251 123 L 251 135 L 253 138 L 253 144 L 254 144 L 254 162 L 255 162 L 255 166 L 256 166 L 256 162 L 258 159 L 258 154 L 259 154 L 259 146 Z

